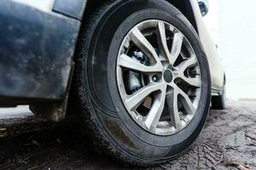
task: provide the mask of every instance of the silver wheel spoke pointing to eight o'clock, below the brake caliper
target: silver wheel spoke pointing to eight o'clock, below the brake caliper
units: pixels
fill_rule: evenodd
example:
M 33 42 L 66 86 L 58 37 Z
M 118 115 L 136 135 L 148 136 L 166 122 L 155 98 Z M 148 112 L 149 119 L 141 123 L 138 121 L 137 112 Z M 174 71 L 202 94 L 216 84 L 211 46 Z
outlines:
M 145 86 L 139 89 L 136 93 L 127 96 L 125 103 L 129 111 L 137 109 L 137 106 L 143 102 L 143 99 L 148 97 L 149 94 L 162 90 L 164 83 L 150 83 L 148 86 Z

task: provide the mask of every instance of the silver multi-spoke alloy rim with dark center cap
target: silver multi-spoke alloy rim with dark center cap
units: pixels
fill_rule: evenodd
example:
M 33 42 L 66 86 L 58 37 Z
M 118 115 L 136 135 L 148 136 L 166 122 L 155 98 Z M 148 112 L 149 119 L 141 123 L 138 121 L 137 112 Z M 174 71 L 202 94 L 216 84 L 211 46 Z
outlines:
M 171 135 L 189 125 L 201 95 L 195 51 L 175 26 L 146 20 L 124 38 L 117 84 L 126 111 L 149 133 Z

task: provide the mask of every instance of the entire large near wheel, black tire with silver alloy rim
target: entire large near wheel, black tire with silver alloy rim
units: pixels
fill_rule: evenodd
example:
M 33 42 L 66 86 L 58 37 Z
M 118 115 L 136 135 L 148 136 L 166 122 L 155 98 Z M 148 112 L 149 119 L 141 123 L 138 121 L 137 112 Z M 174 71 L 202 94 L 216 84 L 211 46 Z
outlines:
M 140 166 L 182 154 L 211 99 L 207 58 L 189 21 L 163 0 L 111 1 L 86 20 L 73 107 L 96 148 Z

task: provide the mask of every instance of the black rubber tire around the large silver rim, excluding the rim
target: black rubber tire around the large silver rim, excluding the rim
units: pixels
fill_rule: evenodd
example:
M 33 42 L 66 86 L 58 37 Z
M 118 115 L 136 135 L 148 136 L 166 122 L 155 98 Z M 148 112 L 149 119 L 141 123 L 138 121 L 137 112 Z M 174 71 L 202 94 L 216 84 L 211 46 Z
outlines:
M 189 21 L 163 0 L 111 1 L 86 15 L 76 54 L 71 104 L 100 153 L 127 164 L 149 166 L 181 155 L 206 122 L 211 83 L 205 53 Z M 147 19 L 166 20 L 188 38 L 201 65 L 201 100 L 195 117 L 180 133 L 158 136 L 139 127 L 119 97 L 115 64 L 127 31 Z

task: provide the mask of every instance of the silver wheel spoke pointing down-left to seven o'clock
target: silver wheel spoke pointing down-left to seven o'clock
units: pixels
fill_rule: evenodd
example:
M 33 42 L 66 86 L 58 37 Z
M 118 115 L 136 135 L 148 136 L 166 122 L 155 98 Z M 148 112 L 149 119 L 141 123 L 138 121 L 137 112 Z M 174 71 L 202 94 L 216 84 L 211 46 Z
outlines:
M 155 132 L 157 123 L 160 121 L 160 116 L 164 110 L 166 102 L 166 85 L 162 85 L 160 90 L 161 93 L 156 95 L 154 103 L 144 122 L 146 127 L 153 133 Z

